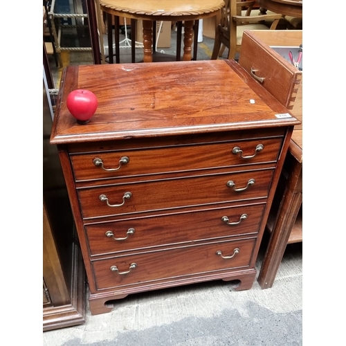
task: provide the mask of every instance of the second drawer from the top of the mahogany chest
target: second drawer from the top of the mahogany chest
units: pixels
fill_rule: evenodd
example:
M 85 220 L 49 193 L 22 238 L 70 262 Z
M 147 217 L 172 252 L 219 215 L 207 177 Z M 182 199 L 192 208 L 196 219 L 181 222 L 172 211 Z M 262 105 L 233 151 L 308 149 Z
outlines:
M 273 170 L 105 185 L 78 190 L 84 219 L 266 198 Z

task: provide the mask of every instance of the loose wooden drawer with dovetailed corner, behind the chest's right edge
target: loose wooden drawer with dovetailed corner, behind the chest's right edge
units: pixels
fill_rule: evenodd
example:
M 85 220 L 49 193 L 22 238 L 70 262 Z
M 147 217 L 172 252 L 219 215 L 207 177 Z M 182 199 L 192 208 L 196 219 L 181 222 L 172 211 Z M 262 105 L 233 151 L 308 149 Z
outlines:
M 245 30 L 239 65 L 253 78 L 264 78 L 262 86 L 302 122 L 302 71 L 271 48 L 300 44 L 302 30 Z

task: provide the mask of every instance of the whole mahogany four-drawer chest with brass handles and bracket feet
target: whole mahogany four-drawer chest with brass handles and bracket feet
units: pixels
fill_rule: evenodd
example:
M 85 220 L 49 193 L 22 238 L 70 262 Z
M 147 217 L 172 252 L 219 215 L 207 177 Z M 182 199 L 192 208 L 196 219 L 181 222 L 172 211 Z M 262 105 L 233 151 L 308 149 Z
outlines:
M 98 98 L 86 125 L 66 107 L 74 89 Z M 130 293 L 207 280 L 250 289 L 299 123 L 234 61 L 67 67 L 51 143 L 91 313 Z

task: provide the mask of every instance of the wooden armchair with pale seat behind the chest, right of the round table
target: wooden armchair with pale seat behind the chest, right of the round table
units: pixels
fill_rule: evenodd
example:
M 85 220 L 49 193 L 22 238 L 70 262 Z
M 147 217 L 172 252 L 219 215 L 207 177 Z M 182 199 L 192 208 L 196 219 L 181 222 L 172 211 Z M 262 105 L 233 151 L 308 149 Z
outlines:
M 218 26 L 215 29 L 215 43 L 212 51 L 212 60 L 221 56 L 224 48 L 228 48 L 228 59 L 235 59 L 242 46 L 244 30 L 275 30 L 282 15 L 251 15 L 251 10 L 256 1 L 226 0 L 222 9 L 221 17 L 218 17 Z M 242 15 L 244 7 L 247 8 L 246 15 Z M 261 21 L 273 21 L 268 28 Z

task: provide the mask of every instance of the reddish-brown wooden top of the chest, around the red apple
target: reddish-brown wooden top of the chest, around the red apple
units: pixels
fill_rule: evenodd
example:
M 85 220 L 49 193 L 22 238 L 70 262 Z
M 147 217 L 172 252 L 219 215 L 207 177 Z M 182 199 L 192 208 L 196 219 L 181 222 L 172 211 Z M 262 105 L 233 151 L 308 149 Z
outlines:
M 67 95 L 75 89 L 89 89 L 98 98 L 98 109 L 86 125 L 79 125 L 66 107 Z M 282 104 L 233 60 L 68 66 L 51 143 L 300 123 L 292 116 L 280 118 L 280 113 L 287 113 Z

